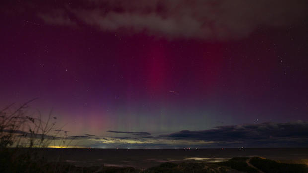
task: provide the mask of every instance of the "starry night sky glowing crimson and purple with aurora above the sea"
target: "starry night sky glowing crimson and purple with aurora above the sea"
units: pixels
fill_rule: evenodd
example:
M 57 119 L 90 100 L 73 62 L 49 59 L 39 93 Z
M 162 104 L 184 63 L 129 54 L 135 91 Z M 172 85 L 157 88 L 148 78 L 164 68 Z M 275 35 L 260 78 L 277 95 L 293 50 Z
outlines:
M 3 0 L 0 108 L 77 147 L 308 145 L 307 0 Z M 73 142 L 74 143 L 74 142 Z

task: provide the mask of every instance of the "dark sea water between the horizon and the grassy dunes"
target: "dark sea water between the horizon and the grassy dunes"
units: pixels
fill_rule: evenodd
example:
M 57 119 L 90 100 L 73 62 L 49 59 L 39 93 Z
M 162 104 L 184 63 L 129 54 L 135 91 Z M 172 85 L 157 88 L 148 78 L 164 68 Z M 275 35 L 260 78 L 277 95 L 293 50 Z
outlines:
M 273 160 L 307 160 L 308 148 L 244 149 L 36 149 L 50 161 L 59 158 L 76 166 L 132 166 L 148 168 L 163 162 L 221 162 L 232 157 L 260 156 Z

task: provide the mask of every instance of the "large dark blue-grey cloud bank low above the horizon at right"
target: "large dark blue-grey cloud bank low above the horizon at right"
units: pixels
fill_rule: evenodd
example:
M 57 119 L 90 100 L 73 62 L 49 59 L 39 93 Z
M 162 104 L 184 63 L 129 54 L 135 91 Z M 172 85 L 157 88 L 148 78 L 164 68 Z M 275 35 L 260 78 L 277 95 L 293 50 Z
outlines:
M 230 146 L 307 146 L 308 122 L 296 121 L 289 123 L 261 123 L 231 126 L 218 126 L 210 130 L 183 130 L 161 138 L 174 140 L 211 141 L 210 145 Z

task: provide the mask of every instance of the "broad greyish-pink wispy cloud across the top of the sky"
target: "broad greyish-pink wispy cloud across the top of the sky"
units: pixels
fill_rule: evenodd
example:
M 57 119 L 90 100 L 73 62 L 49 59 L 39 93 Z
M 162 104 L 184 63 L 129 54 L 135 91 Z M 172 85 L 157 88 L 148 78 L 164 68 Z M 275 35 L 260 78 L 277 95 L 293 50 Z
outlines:
M 307 0 L 87 0 L 57 6 L 38 16 L 47 24 L 167 38 L 238 39 L 258 27 L 296 25 L 308 17 Z

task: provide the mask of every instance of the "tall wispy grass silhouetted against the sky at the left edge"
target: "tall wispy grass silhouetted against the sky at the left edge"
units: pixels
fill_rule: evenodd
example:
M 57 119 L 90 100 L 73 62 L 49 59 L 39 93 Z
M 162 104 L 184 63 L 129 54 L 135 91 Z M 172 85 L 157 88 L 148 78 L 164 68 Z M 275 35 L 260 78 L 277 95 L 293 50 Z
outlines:
M 47 148 L 55 139 L 59 145 L 65 144 L 65 135 L 58 136 L 62 130 L 54 130 L 56 117 L 52 111 L 43 120 L 39 111 L 29 114 L 29 103 L 17 108 L 11 104 L 0 110 L 0 172 L 1 173 L 49 173 L 62 172 L 61 162 L 48 163 L 44 152 L 35 148 Z M 12 111 L 13 110 L 13 111 Z M 53 132 L 53 134 L 51 134 Z

